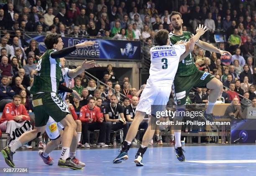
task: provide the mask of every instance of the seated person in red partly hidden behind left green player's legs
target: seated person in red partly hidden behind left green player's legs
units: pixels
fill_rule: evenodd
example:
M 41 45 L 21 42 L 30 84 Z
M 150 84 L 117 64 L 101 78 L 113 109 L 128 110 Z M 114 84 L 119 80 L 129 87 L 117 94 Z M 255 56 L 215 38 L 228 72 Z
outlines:
M 78 147 L 78 148 L 84 148 L 84 145 L 81 143 L 82 122 L 81 122 L 81 120 L 79 120 L 79 119 L 77 118 L 77 114 L 76 114 L 76 112 L 75 112 L 75 110 L 74 110 L 73 105 L 70 103 L 68 97 L 66 97 L 65 101 L 66 101 L 66 103 L 67 103 L 67 105 L 68 105 L 68 107 L 69 107 L 69 111 L 71 112 L 74 121 L 75 121 L 76 124 L 77 124 L 77 129 L 76 129 L 76 131 L 77 131 L 77 139 L 78 139 L 77 147 Z

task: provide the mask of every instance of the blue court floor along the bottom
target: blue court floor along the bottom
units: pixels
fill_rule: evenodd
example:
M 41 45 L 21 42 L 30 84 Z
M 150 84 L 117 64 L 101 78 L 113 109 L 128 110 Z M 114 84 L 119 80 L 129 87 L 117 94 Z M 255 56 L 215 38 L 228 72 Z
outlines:
M 85 162 L 84 170 L 71 170 L 57 166 L 61 151 L 53 151 L 54 165 L 47 166 L 37 151 L 17 151 L 16 167 L 28 167 L 29 174 L 18 176 L 256 176 L 256 146 L 185 146 L 186 162 L 177 161 L 174 147 L 148 148 L 143 167 L 133 163 L 137 149 L 130 149 L 129 159 L 112 164 L 118 149 L 77 150 L 77 157 Z M 0 156 L 0 168 L 8 167 Z M 16 174 L 0 174 L 14 176 Z

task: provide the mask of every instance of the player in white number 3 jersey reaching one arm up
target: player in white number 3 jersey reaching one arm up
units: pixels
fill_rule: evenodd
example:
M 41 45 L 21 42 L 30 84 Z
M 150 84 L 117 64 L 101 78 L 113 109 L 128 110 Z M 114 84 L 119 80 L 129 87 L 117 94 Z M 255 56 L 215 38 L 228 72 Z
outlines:
M 169 95 L 172 91 L 172 82 L 177 72 L 179 61 L 181 61 L 180 56 L 186 52 L 186 50 L 192 51 L 194 49 L 195 42 L 205 33 L 205 31 L 207 31 L 205 28 L 200 26 L 199 32 L 184 45 L 170 46 L 168 38 L 169 32 L 167 30 L 159 30 L 156 33 L 155 40 L 158 46 L 150 49 L 150 75 L 147 80 L 146 87 L 143 89 L 141 94 L 138 106 L 136 107 L 136 114 L 133 119 L 133 123 L 128 130 L 125 141 L 123 142 L 122 150 L 114 159 L 113 163 L 120 163 L 122 160 L 128 159 L 128 150 L 130 148 L 131 141 L 133 141 L 137 134 L 139 124 L 146 114 L 151 114 L 148 129 L 143 136 L 142 145 L 138 149 L 134 160 L 136 166 L 143 166 L 143 154 L 154 136 L 156 112 L 164 111 L 166 107 Z M 151 109 L 151 105 L 158 106 L 154 106 L 153 109 Z

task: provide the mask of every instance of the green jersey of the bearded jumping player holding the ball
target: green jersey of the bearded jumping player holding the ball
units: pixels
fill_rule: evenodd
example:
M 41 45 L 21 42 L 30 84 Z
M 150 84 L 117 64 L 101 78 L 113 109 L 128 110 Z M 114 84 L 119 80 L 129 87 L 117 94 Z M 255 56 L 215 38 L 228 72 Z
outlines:
M 191 32 L 187 32 L 187 31 L 183 31 L 182 33 L 183 33 L 182 35 L 176 35 L 172 32 L 169 33 L 169 38 L 172 45 L 174 45 L 180 40 L 187 42 L 190 39 L 190 35 L 192 35 Z M 180 77 L 189 76 L 194 74 L 196 70 L 197 70 L 197 67 L 195 66 L 192 54 L 189 53 L 189 55 L 185 59 L 179 62 L 176 75 Z

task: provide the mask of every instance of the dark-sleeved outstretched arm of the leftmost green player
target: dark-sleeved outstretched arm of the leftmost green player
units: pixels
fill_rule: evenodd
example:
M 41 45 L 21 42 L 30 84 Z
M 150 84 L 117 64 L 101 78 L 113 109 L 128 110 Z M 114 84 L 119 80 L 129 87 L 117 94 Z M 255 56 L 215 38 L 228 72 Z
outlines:
M 85 41 L 85 42 L 82 42 L 82 43 L 79 43 L 77 45 L 74 45 L 72 47 L 67 47 L 67 48 L 64 48 L 62 50 L 59 50 L 59 51 L 55 51 L 55 52 L 52 52 L 51 53 L 51 58 L 61 58 L 61 57 L 65 57 L 67 56 L 69 53 L 73 52 L 74 50 L 76 49 L 80 49 L 80 48 L 84 48 L 84 47 L 90 47 L 92 45 L 94 45 L 95 42 L 92 42 L 92 41 Z

